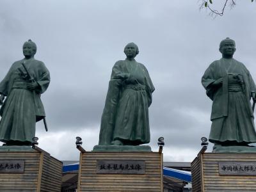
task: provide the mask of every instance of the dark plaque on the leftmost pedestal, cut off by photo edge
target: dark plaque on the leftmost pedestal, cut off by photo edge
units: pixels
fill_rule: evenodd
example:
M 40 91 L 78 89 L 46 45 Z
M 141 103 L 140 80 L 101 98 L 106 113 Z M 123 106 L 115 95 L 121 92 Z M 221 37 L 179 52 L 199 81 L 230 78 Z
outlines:
M 24 173 L 24 160 L 0 160 L 0 173 Z

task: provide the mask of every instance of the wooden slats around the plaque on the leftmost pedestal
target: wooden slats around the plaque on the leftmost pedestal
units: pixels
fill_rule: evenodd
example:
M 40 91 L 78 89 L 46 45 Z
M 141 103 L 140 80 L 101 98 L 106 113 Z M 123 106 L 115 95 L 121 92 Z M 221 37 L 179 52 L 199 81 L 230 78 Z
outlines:
M 24 173 L 0 173 L 0 191 L 61 191 L 62 163 L 57 159 L 36 150 L 0 152 L 0 159 L 25 161 Z

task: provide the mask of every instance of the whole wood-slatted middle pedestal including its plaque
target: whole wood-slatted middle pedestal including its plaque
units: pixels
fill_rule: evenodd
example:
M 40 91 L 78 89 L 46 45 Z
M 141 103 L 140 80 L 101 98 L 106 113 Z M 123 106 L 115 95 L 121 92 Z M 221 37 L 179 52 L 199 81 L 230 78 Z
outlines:
M 163 154 L 82 152 L 78 191 L 163 191 Z

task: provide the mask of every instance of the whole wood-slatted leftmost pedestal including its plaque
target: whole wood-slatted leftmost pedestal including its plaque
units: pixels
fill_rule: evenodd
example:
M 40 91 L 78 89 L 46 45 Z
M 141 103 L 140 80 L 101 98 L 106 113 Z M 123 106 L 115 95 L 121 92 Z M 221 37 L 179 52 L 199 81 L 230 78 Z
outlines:
M 0 147 L 0 191 L 60 191 L 62 162 L 35 147 Z

